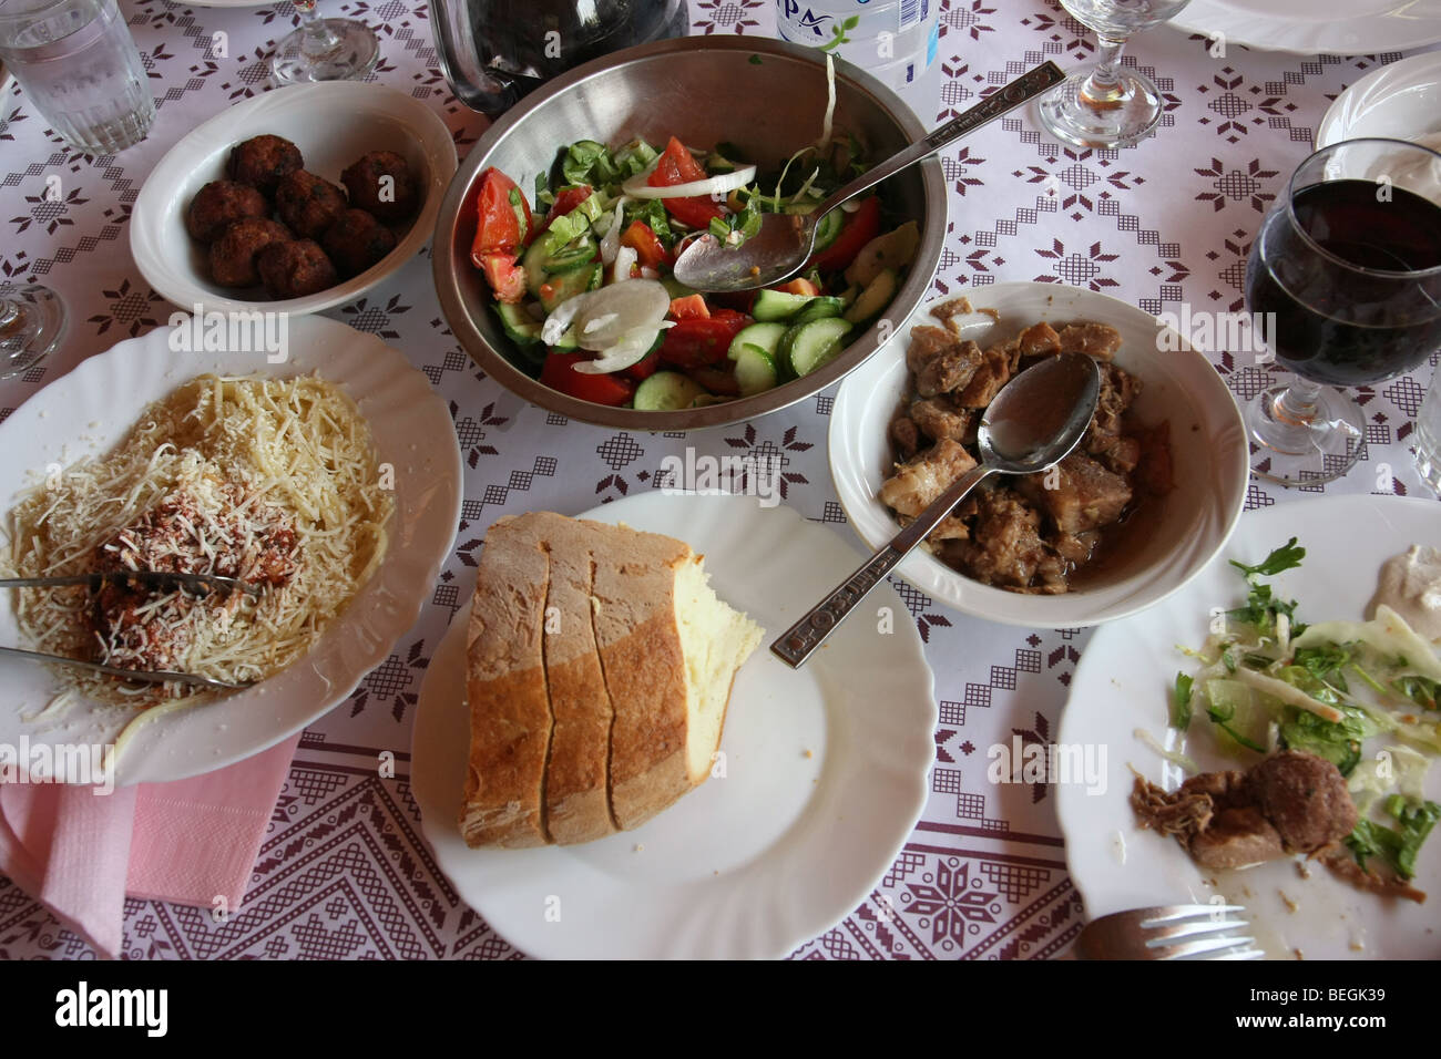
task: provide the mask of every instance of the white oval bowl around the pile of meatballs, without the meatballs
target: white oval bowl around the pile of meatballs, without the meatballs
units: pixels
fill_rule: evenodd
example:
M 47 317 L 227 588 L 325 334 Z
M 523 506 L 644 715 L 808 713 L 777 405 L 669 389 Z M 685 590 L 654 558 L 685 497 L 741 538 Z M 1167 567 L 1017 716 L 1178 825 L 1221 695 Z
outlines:
M 409 163 L 425 202 L 395 249 L 360 275 L 304 298 L 245 301 L 245 291 L 210 281 L 205 246 L 184 231 L 184 213 L 196 192 L 225 176 L 231 147 L 262 133 L 294 141 L 305 169 L 331 183 L 367 151 L 396 151 Z M 205 305 L 317 313 L 353 301 L 421 252 L 454 174 L 455 144 L 445 122 L 403 92 L 357 81 L 278 88 L 215 115 L 166 153 L 135 199 L 130 251 L 146 281 L 187 311 Z

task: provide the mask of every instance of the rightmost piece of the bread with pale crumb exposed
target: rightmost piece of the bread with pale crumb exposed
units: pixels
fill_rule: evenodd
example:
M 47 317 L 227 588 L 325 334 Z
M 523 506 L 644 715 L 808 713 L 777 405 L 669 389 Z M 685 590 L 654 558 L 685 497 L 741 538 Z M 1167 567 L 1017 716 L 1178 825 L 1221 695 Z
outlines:
M 673 537 L 595 524 L 595 643 L 615 722 L 611 811 L 630 830 L 710 775 L 736 670 L 762 630 Z

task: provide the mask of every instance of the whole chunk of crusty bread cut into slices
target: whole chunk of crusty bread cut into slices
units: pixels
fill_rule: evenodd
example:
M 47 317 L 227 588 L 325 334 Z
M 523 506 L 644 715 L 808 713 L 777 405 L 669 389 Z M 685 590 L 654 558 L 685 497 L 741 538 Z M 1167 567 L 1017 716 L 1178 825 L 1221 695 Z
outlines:
M 582 843 L 710 775 L 762 631 L 687 545 L 550 511 L 490 527 L 468 643 L 471 846 Z

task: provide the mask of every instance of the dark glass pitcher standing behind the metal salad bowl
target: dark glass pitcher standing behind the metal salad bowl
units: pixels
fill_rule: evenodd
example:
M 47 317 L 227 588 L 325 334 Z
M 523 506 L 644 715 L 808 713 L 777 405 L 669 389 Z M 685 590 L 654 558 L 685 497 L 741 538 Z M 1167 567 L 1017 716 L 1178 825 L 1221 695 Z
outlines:
M 631 45 L 683 36 L 686 0 L 434 0 L 455 98 L 496 117 L 545 81 Z

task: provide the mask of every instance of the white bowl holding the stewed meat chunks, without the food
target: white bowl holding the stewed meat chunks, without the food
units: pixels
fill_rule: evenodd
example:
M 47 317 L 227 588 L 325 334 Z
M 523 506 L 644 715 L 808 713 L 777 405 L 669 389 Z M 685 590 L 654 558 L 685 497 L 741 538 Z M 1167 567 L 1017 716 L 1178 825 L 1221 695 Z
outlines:
M 1245 426 L 1231 392 L 1200 353 L 1179 349 L 1182 339 L 1156 317 L 1124 301 L 1076 287 L 1009 282 L 965 291 L 977 308 L 1001 316 L 968 318 L 965 337 L 984 347 L 1038 320 L 1089 320 L 1111 324 L 1124 344 L 1115 363 L 1144 383 L 1136 411 L 1146 424 L 1170 422 L 1176 490 L 1166 499 L 1150 539 L 1104 584 L 1063 595 L 1020 595 L 981 585 L 924 549 L 898 568 L 901 576 L 958 611 L 1027 628 L 1094 625 L 1134 614 L 1196 576 L 1216 553 L 1245 506 Z M 906 389 L 905 347 L 911 327 L 937 324 L 921 305 L 876 356 L 840 386 L 830 416 L 830 473 L 850 524 L 872 550 L 898 532 L 876 493 L 891 471 L 886 426 Z M 1174 352 L 1160 352 L 1169 334 Z

